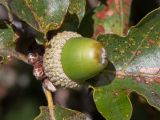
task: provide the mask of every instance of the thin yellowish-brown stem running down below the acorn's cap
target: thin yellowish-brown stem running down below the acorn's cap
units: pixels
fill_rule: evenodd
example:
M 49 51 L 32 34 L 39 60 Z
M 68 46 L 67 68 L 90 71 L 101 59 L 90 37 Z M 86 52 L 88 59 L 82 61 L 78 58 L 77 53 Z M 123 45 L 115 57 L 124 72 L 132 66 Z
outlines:
M 55 114 L 54 114 L 54 103 L 53 103 L 53 99 L 52 99 L 52 93 L 51 91 L 45 89 L 45 87 L 43 87 L 43 91 L 45 93 L 47 102 L 48 102 L 48 109 L 49 109 L 49 114 L 51 117 L 51 120 L 56 120 L 55 118 Z

